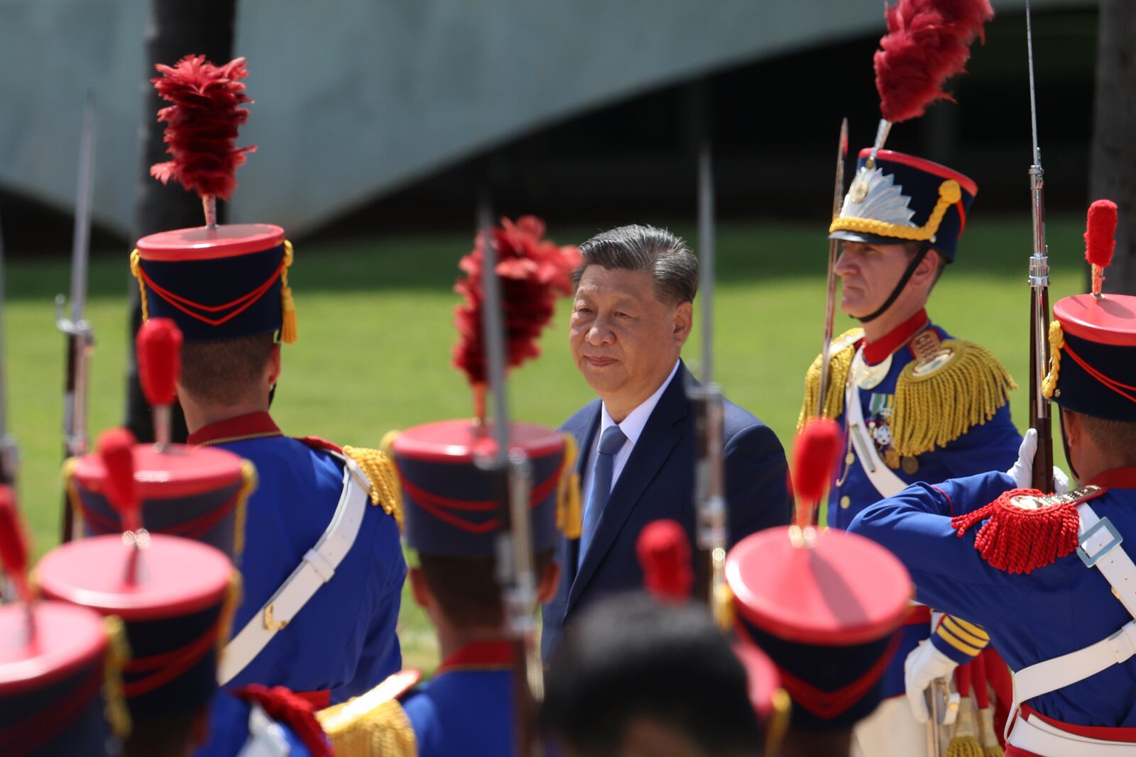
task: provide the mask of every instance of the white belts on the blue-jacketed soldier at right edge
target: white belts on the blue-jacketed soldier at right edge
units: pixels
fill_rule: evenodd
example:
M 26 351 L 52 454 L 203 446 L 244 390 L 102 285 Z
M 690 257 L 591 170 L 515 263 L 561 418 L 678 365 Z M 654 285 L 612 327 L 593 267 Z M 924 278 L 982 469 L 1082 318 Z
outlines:
M 1080 516 L 1080 524 L 1077 529 L 1079 542 L 1077 554 L 1086 566 L 1101 571 L 1104 580 L 1112 587 L 1112 592 L 1124 604 L 1128 614 L 1136 619 L 1136 564 L 1133 564 L 1131 557 L 1120 547 L 1124 537 L 1108 518 L 1097 516 L 1087 502 L 1077 505 L 1077 514 Z M 1136 620 L 1128 621 L 1116 633 L 1084 649 L 1021 668 L 1013 674 L 1013 706 L 1010 708 L 1011 716 L 1005 724 L 1008 738 L 1018 732 L 1019 725 L 1016 721 L 1022 721 L 1021 717 L 1017 716 L 1021 703 L 1084 681 L 1113 665 L 1126 663 L 1134 654 L 1136 654 Z M 1034 730 L 1041 727 L 1038 723 L 1045 725 L 1046 729 L 1064 733 L 1052 729 L 1047 723 L 1037 718 L 1034 718 L 1031 725 L 1020 727 L 1025 729 L 1024 732 L 1033 733 Z M 1010 731 L 1011 724 L 1013 724 L 1012 732 Z M 1113 751 L 1100 754 L 1119 754 L 1114 751 L 1118 747 L 1104 743 Z M 1016 743 L 1014 746 L 1037 751 L 1025 745 Z M 1126 754 L 1136 755 L 1136 745 L 1124 745 L 1122 748 L 1128 750 Z M 1038 754 L 1055 755 L 1058 752 L 1039 751 Z M 1092 755 L 1097 752 L 1066 751 L 1060 754 Z

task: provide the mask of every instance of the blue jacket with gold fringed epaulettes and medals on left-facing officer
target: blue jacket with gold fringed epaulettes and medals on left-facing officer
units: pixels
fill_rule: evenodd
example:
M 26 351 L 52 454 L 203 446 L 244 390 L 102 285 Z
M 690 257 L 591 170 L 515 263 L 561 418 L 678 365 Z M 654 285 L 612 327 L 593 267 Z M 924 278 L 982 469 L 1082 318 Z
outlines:
M 830 528 L 846 529 L 866 507 L 916 481 L 1006 470 L 1017 460 L 1021 436 L 1010 420 L 1005 394 L 1012 387 L 1009 375 L 978 345 L 954 339 L 930 323 L 926 312 L 920 311 L 871 347 L 864 345 L 861 329 L 845 333 L 833 344 L 826 415 L 840 420 L 849 435 L 849 447 L 828 498 Z M 860 358 L 867 369 L 858 371 Z M 818 358 L 805 380 L 802 421 L 816 414 L 819 364 Z M 850 385 L 859 401 L 862 424 L 853 424 L 844 406 Z M 924 407 L 933 407 L 935 417 L 922 418 L 928 414 Z M 875 462 L 861 454 L 868 445 L 876 451 Z M 894 491 L 876 487 L 868 472 L 874 464 L 886 469 L 885 476 L 895 477 Z M 929 612 L 913 608 L 884 674 L 885 697 L 903 693 L 903 663 L 928 637 L 955 662 L 967 662 L 979 651 L 954 638 L 952 628 L 957 628 L 953 621 L 932 636 Z M 975 641 L 966 630 L 959 629 L 959 633 Z

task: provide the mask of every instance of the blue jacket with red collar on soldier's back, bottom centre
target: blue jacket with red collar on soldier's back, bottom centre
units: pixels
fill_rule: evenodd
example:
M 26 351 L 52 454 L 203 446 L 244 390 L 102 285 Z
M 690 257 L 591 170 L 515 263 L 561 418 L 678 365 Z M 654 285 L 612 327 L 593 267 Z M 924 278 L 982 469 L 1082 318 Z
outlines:
M 512 645 L 470 644 L 402 698 L 418 757 L 512 757 Z

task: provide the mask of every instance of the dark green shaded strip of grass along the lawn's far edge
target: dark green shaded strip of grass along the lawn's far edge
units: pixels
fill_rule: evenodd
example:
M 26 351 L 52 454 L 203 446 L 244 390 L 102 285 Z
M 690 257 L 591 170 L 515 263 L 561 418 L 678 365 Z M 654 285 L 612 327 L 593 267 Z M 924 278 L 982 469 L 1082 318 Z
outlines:
M 1054 217 L 1047 225 L 1051 264 L 1078 261 L 1084 250 L 1083 221 Z M 561 243 L 579 243 L 596 229 L 552 229 Z M 690 225 L 673 227 L 686 239 L 696 237 Z M 777 278 L 822 276 L 827 252 L 824 229 L 805 224 L 724 224 L 717 235 L 718 280 L 722 284 Z M 337 239 L 296 245 L 292 285 L 303 292 L 382 292 L 421 289 L 448 292 L 458 274 L 458 259 L 473 246 L 473 234 L 421 234 L 415 236 Z M 1027 215 L 971 222 L 960 245 L 955 266 L 968 274 L 1026 276 L 1030 252 Z M 125 252 L 100 251 L 90 267 L 91 297 L 126 296 L 136 286 L 130 276 Z M 9 270 L 7 294 L 14 300 L 50 300 L 67 292 L 69 263 L 65 260 L 15 261 Z

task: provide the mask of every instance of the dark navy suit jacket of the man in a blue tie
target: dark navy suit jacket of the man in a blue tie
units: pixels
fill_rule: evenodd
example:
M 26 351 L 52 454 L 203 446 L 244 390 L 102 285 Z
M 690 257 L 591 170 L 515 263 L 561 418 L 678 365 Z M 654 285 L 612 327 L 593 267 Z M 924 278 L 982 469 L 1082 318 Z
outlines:
M 545 661 L 562 634 L 571 631 L 571 619 L 582 607 L 605 595 L 643 588 L 635 557 L 635 540 L 643 527 L 660 518 L 674 519 L 694 544 L 694 412 L 686 397 L 686 385 L 692 381 L 686 367 L 679 365 L 611 489 L 578 571 L 579 540 L 561 537 L 557 546 L 560 584 L 544 605 L 541 650 Z M 793 501 L 786 488 L 785 451 L 777 436 L 752 413 L 728 401 L 725 405 L 727 528 L 733 546 L 754 531 L 787 524 Z M 576 437 L 582 473 L 599 428 L 599 399 L 560 427 Z

